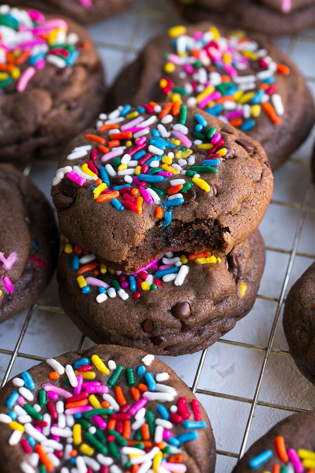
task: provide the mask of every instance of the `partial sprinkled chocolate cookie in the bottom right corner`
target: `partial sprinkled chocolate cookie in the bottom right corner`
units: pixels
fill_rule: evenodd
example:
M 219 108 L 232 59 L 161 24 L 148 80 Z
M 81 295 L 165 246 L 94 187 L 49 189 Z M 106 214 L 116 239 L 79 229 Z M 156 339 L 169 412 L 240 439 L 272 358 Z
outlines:
M 314 422 L 314 411 L 281 420 L 247 450 L 232 473 L 314 471 Z

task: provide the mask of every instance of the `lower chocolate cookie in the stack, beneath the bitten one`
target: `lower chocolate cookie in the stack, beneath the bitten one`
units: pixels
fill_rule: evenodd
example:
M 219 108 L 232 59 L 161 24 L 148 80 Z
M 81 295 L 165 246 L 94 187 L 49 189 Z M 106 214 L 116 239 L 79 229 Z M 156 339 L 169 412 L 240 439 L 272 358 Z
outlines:
M 60 254 L 58 279 L 61 306 L 79 329 L 94 342 L 172 356 L 212 345 L 249 312 L 265 260 L 258 230 L 227 257 L 170 253 L 134 275 L 112 274 L 72 248 Z

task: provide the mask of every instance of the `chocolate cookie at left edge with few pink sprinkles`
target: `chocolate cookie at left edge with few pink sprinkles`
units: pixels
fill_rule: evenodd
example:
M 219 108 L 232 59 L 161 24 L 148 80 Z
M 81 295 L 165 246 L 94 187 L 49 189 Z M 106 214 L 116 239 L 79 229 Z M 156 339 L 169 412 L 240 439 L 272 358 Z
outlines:
M 29 307 L 49 284 L 58 229 L 43 194 L 11 165 L 0 164 L 0 323 Z

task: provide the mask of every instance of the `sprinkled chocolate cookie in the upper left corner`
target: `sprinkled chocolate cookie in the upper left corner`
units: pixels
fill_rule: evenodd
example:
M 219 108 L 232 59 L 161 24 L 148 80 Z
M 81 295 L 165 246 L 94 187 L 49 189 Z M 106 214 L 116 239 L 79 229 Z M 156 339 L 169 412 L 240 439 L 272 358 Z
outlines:
M 0 35 L 0 160 L 56 153 L 102 109 L 94 44 L 71 20 L 8 5 L 0 6 Z

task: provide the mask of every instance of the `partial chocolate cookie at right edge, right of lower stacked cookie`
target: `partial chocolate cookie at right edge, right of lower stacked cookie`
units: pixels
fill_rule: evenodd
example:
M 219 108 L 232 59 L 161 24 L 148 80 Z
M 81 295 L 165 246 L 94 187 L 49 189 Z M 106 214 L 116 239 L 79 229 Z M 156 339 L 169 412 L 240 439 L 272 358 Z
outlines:
M 289 290 L 283 330 L 298 369 L 315 385 L 315 263 Z

